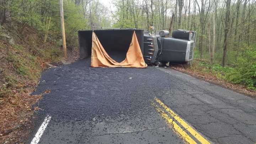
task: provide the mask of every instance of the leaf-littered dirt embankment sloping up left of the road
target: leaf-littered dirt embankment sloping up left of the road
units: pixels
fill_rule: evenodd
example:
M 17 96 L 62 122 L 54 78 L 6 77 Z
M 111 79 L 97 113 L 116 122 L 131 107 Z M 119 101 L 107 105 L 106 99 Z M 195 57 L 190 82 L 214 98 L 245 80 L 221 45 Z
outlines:
M 39 109 L 32 105 L 43 95 L 30 95 L 40 73 L 50 63 L 62 64 L 61 42 L 44 42 L 38 30 L 26 26 L 20 33 L 19 27 L 6 24 L 0 29 L 0 143 L 22 142 L 20 137 L 27 135 L 31 116 Z M 77 52 L 69 56 L 74 59 Z

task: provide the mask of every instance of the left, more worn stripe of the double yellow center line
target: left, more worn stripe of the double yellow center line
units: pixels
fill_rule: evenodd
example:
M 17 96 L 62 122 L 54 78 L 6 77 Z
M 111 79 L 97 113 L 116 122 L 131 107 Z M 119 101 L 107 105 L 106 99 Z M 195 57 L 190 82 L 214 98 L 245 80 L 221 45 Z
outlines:
M 156 110 L 161 114 L 161 116 L 164 119 L 166 119 L 166 121 L 169 124 L 172 124 L 172 126 L 174 127 L 175 132 L 179 133 L 181 135 L 181 137 L 183 139 L 185 139 L 185 141 L 187 143 L 196 144 L 196 142 L 180 126 L 178 126 L 178 124 L 176 122 L 174 122 L 163 110 L 161 110 L 161 108 L 159 108 L 157 105 L 155 105 L 154 102 L 152 102 L 152 105 L 155 106 Z

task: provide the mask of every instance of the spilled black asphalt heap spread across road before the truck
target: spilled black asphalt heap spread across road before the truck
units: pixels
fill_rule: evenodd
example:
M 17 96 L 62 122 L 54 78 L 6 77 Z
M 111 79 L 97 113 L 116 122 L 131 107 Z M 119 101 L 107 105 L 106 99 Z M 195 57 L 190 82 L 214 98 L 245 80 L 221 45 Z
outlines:
M 136 117 L 152 111 L 151 100 L 165 87 L 176 87 L 176 79 L 155 68 L 91 68 L 91 59 L 51 68 L 42 73 L 38 89 L 51 93 L 39 102 L 39 115 L 55 119 L 91 120 L 117 118 L 120 114 Z M 141 114 L 141 113 L 140 113 Z M 101 119 L 97 119 L 100 121 Z

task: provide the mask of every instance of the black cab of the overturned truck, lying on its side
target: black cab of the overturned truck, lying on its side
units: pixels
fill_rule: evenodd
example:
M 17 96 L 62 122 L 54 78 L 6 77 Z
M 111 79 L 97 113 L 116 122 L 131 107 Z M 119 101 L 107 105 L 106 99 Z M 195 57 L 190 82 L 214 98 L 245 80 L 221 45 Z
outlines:
M 160 31 L 159 35 L 144 33 L 144 60 L 148 64 L 168 62 L 191 63 L 195 47 L 194 31 Z

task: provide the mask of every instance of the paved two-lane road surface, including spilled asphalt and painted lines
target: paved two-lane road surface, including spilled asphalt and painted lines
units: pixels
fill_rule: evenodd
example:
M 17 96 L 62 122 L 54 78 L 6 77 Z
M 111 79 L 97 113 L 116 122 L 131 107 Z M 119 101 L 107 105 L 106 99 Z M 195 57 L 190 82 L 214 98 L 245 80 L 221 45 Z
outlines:
M 84 59 L 45 71 L 34 94 L 46 89 L 26 143 L 256 142 L 255 99 L 169 68 Z

